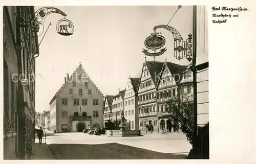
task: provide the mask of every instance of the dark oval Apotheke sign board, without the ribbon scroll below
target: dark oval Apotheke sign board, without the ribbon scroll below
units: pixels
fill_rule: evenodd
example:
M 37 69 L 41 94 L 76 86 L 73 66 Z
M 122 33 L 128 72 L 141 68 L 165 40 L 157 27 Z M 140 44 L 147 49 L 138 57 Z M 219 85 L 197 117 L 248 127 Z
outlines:
M 165 38 L 161 35 L 152 34 L 145 39 L 144 44 L 150 50 L 160 49 L 165 44 Z

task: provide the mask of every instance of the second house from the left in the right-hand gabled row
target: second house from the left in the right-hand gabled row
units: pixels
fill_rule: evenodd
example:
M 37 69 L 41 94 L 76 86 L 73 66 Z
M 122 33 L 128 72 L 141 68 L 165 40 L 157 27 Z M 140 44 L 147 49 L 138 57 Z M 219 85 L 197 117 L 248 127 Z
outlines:
M 119 129 L 122 118 L 121 114 L 124 112 L 124 90 L 119 90 L 119 93 L 112 98 L 112 122 L 115 123 L 115 129 Z

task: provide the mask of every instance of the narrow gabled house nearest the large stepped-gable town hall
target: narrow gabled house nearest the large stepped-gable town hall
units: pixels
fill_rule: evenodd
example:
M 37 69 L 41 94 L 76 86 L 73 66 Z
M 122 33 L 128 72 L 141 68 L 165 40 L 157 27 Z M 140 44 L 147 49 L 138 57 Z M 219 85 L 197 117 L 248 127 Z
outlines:
M 112 122 L 112 99 L 114 96 L 106 95 L 104 101 L 104 127 L 110 128 L 109 123 Z

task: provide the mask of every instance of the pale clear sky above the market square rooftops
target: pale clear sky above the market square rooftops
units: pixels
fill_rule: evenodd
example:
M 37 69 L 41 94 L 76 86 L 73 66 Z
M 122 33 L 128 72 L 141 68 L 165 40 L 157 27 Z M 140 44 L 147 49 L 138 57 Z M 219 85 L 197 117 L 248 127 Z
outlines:
M 35 11 L 39 6 L 35 6 Z M 156 25 L 166 25 L 177 6 L 58 6 L 74 25 L 71 36 L 56 32 L 56 23 L 64 18 L 49 14 L 36 58 L 36 111 L 49 110 L 49 102 L 64 83 L 67 73 L 72 74 L 81 62 L 84 70 L 103 95 L 117 95 L 118 89 L 126 88 L 129 73 L 139 78 L 145 55 L 144 40 Z M 182 6 L 170 21 L 184 40 L 192 33 L 192 6 Z M 174 37 L 165 29 L 167 51 L 156 61 L 189 64 L 186 59 L 174 58 Z M 39 42 L 42 35 L 39 36 Z M 146 60 L 154 60 L 146 57 Z

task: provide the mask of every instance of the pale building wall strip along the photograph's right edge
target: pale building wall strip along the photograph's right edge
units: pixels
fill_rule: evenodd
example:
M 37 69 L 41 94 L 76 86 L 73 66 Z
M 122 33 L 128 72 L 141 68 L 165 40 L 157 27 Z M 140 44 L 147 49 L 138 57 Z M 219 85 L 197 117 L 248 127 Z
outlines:
M 197 127 L 199 158 L 209 159 L 209 57 L 207 7 L 197 6 Z

